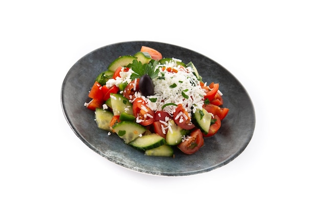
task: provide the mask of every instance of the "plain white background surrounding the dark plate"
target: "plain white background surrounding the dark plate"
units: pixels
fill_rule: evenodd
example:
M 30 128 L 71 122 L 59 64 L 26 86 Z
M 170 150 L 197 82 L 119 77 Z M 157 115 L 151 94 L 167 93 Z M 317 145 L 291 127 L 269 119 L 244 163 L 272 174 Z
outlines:
M 317 1 L 208 3 L 0 3 L 1 212 L 320 211 Z M 65 75 L 85 54 L 134 40 L 194 50 L 234 74 L 256 110 L 240 156 L 159 177 L 82 143 L 62 113 Z

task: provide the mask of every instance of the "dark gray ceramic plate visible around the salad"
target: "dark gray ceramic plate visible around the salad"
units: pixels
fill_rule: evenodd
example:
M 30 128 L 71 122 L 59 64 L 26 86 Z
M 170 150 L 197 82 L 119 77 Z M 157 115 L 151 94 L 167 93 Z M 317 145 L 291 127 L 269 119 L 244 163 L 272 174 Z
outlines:
M 116 134 L 107 135 L 97 128 L 94 112 L 84 107 L 95 78 L 115 58 L 133 55 L 142 45 L 161 52 L 163 57 L 192 61 L 205 82 L 216 82 L 223 92 L 224 107 L 230 109 L 222 120 L 219 132 L 204 139 L 204 146 L 195 154 L 175 150 L 175 158 L 145 156 L 125 145 Z M 248 145 L 255 129 L 255 111 L 245 88 L 225 68 L 194 51 L 180 46 L 131 41 L 104 46 L 83 56 L 68 71 L 61 88 L 64 116 L 76 135 L 89 148 L 127 169 L 161 176 L 186 176 L 208 172 L 235 159 Z

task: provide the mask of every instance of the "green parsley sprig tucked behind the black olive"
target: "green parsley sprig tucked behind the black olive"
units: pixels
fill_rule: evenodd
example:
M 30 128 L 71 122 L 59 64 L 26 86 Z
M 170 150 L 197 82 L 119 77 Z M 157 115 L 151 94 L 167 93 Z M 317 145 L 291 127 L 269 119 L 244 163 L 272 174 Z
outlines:
M 147 74 L 151 79 L 154 79 L 158 76 L 159 69 L 156 69 L 156 65 L 159 62 L 156 60 L 151 60 L 147 64 L 142 64 L 141 61 L 133 60 L 129 66 L 133 70 L 134 73 L 131 74 L 130 79 L 134 80 L 136 78 L 140 78 L 143 75 Z

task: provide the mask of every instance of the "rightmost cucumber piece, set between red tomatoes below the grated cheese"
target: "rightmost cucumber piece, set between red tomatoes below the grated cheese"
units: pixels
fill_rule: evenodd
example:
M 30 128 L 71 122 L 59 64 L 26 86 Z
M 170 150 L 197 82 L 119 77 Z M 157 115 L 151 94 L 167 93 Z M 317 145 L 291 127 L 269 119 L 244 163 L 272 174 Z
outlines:
M 204 134 L 208 134 L 211 125 L 212 114 L 207 110 L 197 110 L 192 115 L 192 123 L 198 127 Z

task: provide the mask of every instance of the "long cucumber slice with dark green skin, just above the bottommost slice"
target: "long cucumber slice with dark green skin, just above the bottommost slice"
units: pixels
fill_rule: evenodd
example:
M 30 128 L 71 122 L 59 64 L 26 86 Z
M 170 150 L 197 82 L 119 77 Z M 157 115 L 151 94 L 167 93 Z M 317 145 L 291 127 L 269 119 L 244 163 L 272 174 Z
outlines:
M 129 143 L 130 146 L 142 151 L 154 149 L 164 144 L 166 144 L 166 139 L 155 133 L 143 135 Z

